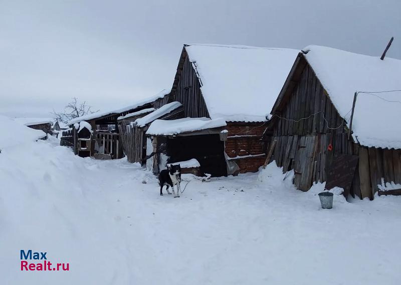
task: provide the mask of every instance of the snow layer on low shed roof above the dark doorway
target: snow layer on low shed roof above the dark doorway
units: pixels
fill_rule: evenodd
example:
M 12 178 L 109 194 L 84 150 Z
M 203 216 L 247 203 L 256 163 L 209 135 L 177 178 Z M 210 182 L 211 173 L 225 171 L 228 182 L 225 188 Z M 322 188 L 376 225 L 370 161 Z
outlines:
M 147 135 L 176 135 L 227 126 L 222 118 L 211 120 L 209 118 L 183 118 L 177 120 L 156 120 L 150 124 Z

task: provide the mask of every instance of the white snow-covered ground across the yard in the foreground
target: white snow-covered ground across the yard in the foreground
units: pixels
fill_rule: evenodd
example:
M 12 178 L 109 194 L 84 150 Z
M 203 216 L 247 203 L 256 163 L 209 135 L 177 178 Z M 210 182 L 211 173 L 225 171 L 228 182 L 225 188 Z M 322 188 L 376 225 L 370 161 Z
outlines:
M 159 196 L 138 164 L 57 143 L 0 153 L 1 284 L 399 283 L 401 197 L 334 195 L 323 210 L 322 185 L 297 191 L 274 163 L 210 182 L 183 175 L 180 198 Z M 21 271 L 21 249 L 70 270 Z

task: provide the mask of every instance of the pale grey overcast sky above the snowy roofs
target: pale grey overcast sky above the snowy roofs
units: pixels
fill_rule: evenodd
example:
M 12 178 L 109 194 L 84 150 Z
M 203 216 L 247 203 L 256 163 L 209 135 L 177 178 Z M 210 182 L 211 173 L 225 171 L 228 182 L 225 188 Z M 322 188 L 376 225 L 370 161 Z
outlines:
M 0 113 L 46 117 L 171 88 L 182 44 L 323 45 L 401 59 L 400 0 L 0 0 Z

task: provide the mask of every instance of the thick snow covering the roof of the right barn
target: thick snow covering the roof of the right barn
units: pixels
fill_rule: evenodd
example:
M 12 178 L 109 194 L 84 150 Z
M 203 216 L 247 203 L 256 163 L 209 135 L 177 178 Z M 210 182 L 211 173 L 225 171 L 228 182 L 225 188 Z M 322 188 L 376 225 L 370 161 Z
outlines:
M 401 148 L 401 92 L 371 93 L 401 90 L 401 61 L 320 46 L 309 46 L 304 51 L 348 127 L 354 92 L 370 93 L 357 96 L 352 121 L 354 138 L 368 147 Z

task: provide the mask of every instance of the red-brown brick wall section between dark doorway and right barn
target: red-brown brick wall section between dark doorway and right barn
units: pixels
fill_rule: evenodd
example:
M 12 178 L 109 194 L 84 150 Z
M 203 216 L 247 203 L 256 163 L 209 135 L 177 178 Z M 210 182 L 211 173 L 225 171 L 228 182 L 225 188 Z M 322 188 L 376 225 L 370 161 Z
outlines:
M 226 141 L 226 153 L 229 157 L 265 154 L 262 144 L 262 134 L 266 126 L 257 123 L 228 122 L 226 129 L 229 131 Z M 240 173 L 256 172 L 265 162 L 266 156 L 246 157 L 235 159 L 240 167 Z

